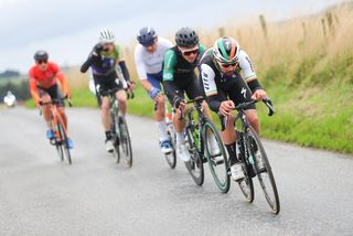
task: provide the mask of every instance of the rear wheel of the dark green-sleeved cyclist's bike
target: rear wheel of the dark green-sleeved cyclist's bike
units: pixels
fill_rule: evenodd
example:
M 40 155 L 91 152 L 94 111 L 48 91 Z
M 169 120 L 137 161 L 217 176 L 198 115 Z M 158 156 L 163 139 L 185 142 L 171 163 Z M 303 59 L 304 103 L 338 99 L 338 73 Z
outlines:
M 185 162 L 185 167 L 190 173 L 190 175 L 192 176 L 192 179 L 194 180 L 194 182 L 201 186 L 203 184 L 204 181 L 204 169 L 203 169 L 203 161 L 202 158 L 200 155 L 200 150 L 197 149 L 197 144 L 195 142 L 195 139 L 199 139 L 200 137 L 200 130 L 195 130 L 197 124 L 195 124 L 194 118 L 192 117 L 192 111 L 193 109 L 191 109 L 188 114 L 188 127 L 186 127 L 186 131 L 185 131 L 185 136 L 186 136 L 186 147 L 188 150 L 190 152 L 190 157 L 191 160 Z M 201 140 L 199 140 L 197 142 L 200 142 Z

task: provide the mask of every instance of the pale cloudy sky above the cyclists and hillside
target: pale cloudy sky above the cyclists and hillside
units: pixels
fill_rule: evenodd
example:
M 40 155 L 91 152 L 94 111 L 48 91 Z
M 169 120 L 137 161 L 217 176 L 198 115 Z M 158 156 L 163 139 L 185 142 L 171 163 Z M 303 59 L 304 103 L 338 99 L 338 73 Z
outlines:
M 259 14 L 268 21 L 287 20 L 339 2 L 344 0 L 0 0 L 0 72 L 26 73 L 41 49 L 60 65 L 79 65 L 103 28 L 128 45 L 146 25 L 163 36 L 182 26 L 242 24 Z

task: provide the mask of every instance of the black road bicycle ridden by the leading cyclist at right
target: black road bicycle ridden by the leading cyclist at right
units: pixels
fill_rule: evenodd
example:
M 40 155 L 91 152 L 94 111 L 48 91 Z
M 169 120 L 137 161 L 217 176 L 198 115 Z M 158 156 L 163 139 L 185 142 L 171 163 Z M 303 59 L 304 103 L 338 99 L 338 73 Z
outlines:
M 264 99 L 263 101 L 269 109 L 268 115 L 272 116 L 275 110 L 271 100 Z M 260 138 L 249 125 L 245 114 L 245 108 L 255 103 L 257 101 L 252 100 L 248 103 L 243 103 L 234 108 L 234 110 L 237 111 L 234 121 L 235 135 L 237 137 L 236 152 L 245 173 L 245 178 L 237 183 L 246 201 L 252 203 L 255 196 L 253 178 L 257 176 L 268 205 L 270 206 L 272 213 L 278 214 L 280 211 L 280 203 L 272 169 Z M 239 126 L 236 126 L 238 122 Z M 222 130 L 224 130 L 227 119 L 225 117 L 221 117 L 221 124 Z

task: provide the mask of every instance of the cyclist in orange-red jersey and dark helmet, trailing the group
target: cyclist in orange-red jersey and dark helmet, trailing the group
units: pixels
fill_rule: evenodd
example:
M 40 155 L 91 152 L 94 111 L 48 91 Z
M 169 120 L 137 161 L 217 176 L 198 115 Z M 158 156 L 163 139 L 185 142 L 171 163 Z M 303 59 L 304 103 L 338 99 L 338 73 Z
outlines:
M 34 54 L 35 65 L 30 69 L 30 92 L 35 100 L 36 106 L 42 103 L 49 103 L 51 99 L 63 98 L 63 95 L 57 85 L 57 81 L 61 84 L 61 88 L 65 96 L 71 97 L 68 92 L 68 84 L 64 74 L 60 71 L 58 66 L 49 62 L 47 52 L 40 50 Z M 60 101 L 57 104 L 58 112 L 64 119 L 64 124 L 67 127 L 67 117 L 65 115 L 65 103 Z M 43 106 L 43 118 L 47 126 L 46 138 L 54 139 L 55 135 L 53 131 L 52 124 L 52 108 L 51 105 Z M 74 147 L 73 141 L 67 138 L 67 148 L 72 149 Z

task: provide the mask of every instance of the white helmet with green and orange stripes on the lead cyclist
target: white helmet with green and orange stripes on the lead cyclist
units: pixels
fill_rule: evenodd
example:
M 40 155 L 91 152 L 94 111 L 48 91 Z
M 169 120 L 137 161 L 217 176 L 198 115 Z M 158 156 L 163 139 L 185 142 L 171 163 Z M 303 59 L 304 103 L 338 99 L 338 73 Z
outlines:
M 214 43 L 212 51 L 218 63 L 231 64 L 238 61 L 240 46 L 233 37 L 224 36 Z

